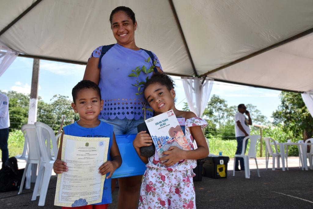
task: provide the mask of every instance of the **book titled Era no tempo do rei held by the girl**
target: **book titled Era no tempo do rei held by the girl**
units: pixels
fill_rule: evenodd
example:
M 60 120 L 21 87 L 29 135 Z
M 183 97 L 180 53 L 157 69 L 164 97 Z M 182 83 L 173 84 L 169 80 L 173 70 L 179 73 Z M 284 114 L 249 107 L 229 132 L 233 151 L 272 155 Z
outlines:
M 178 119 L 179 118 L 176 118 L 174 111 L 169 110 L 145 120 L 156 147 L 158 157 L 162 157 L 162 153 L 168 150 L 171 146 L 176 146 L 183 150 L 192 149 L 192 142 L 185 137 L 185 134 L 178 123 Z

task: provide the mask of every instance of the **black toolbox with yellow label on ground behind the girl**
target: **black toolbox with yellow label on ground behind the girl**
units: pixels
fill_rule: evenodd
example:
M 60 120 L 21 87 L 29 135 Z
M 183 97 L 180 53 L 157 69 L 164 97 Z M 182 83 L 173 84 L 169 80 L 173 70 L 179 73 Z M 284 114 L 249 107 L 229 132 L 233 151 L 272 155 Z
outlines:
M 227 178 L 227 156 L 206 157 L 203 164 L 204 176 L 213 179 Z

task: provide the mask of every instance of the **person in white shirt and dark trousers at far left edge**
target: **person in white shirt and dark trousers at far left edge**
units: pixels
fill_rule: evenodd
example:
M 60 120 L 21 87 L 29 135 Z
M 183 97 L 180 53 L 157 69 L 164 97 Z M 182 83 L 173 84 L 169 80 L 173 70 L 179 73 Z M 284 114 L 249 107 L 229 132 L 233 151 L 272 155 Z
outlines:
M 9 98 L 0 93 L 0 149 L 2 152 L 2 168 L 9 159 L 8 138 L 9 138 Z

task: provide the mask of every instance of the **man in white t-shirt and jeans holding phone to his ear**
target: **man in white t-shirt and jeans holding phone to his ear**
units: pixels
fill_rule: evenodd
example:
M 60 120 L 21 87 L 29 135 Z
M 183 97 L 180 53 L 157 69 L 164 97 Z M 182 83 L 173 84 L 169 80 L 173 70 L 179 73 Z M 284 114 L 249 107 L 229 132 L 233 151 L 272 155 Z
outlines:
M 244 116 L 244 113 L 248 116 L 248 119 Z M 249 125 L 252 125 L 252 120 L 250 118 L 250 113 L 247 111 L 247 107 L 244 104 L 238 105 L 238 112 L 234 117 L 235 121 L 235 136 L 237 140 L 237 150 L 236 154 L 241 154 L 242 152 L 242 143 L 246 136 L 250 134 Z M 248 140 L 246 140 L 244 152 L 246 152 Z M 240 162 L 240 170 L 239 170 L 239 162 Z M 244 171 L 244 159 L 236 158 L 235 161 L 235 172 Z

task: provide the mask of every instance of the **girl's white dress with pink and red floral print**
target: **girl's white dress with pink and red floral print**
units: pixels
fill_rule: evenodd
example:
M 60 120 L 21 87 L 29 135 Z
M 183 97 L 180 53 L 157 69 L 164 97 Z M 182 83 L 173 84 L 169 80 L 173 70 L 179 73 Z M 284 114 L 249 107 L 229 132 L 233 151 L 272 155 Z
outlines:
M 207 122 L 201 118 L 190 118 L 185 122 L 185 136 L 193 149 L 194 141 L 189 127 L 201 126 Z M 197 166 L 196 160 L 182 160 L 166 167 L 157 161 L 154 155 L 148 159 L 147 169 L 143 176 L 138 208 L 196 208 L 195 189 L 192 169 Z

